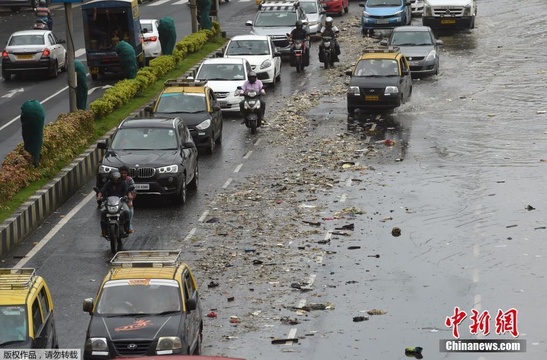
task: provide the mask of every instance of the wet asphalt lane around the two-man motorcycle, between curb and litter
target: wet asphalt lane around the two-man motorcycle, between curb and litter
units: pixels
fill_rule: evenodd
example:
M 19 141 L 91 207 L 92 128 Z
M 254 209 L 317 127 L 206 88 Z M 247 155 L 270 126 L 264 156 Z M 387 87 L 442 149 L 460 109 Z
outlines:
M 185 206 L 163 205 L 157 199 L 142 201 L 144 196 L 137 199 L 141 201 L 136 202 L 136 231 L 124 239 L 125 249 L 183 248 L 185 261 L 193 268 L 197 266 L 192 256 L 194 245 L 185 237 L 200 221 L 214 197 L 229 186 L 230 179 L 239 176 L 234 170 L 245 161 L 249 147 L 253 147 L 253 139 L 242 127 L 238 120 L 225 120 L 223 144 L 213 155 L 200 156 L 200 186 L 196 193 L 189 193 Z M 28 251 L 51 238 L 24 266 L 36 267 L 48 282 L 62 348 L 83 346 L 89 318 L 82 311 L 82 302 L 86 297 L 95 296 L 112 257 L 108 242 L 99 236 L 99 211 L 91 190 L 94 184 L 94 180 L 90 181 L 3 263 L 3 266 L 17 265 Z M 71 211 L 75 214 L 57 232 L 55 227 L 60 227 L 60 221 L 67 221 Z M 204 291 L 205 286 L 201 288 Z

